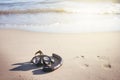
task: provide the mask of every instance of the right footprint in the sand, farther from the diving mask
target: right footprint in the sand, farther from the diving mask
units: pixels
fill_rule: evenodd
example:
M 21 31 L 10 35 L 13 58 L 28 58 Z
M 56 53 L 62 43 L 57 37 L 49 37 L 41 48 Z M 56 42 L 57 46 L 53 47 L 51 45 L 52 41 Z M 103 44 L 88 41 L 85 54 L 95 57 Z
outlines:
M 112 68 L 108 57 L 105 57 L 105 56 L 97 56 L 97 58 L 98 58 L 98 60 L 101 61 L 101 64 L 102 64 L 103 68 L 105 68 L 105 69 L 110 69 L 110 68 Z

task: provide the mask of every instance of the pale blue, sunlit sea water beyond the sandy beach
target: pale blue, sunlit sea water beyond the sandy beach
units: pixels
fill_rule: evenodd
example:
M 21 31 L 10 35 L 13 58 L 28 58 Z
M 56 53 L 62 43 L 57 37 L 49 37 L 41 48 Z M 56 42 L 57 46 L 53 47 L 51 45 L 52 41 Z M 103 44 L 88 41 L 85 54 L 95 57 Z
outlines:
M 120 4 L 79 0 L 0 0 L 0 29 L 55 33 L 120 31 Z

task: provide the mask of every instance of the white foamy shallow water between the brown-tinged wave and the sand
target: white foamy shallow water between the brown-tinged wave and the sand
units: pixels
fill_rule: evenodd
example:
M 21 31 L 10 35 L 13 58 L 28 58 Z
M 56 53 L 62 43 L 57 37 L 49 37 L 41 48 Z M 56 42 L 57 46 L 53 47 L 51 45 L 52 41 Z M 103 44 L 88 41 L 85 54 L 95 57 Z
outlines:
M 51 13 L 53 14 L 53 13 Z M 4 20 L 0 28 L 21 29 L 37 32 L 58 32 L 58 33 L 79 33 L 79 32 L 103 32 L 103 31 L 120 31 L 120 16 L 118 15 L 66 15 L 66 14 L 40 14 L 35 17 L 29 17 L 21 21 L 18 18 L 9 23 L 10 20 Z M 56 17 L 57 16 L 57 17 Z M 10 16 L 11 17 L 11 16 Z M 16 16 L 15 16 L 16 17 Z M 27 17 L 27 16 L 26 16 Z M 14 18 L 14 17 L 12 17 Z M 31 19 L 32 18 L 32 19 Z M 38 20 L 40 18 L 40 20 Z M 43 19 L 42 19 L 43 18 Z M 42 20 L 41 20 L 42 19 Z M 50 19 L 50 20 L 49 20 Z M 17 23 L 17 22 L 18 23 Z M 27 22 L 28 21 L 28 22 Z M 41 22 L 40 22 L 41 21 Z M 47 22 L 47 23 L 46 23 Z M 22 23 L 22 24 L 20 24 Z

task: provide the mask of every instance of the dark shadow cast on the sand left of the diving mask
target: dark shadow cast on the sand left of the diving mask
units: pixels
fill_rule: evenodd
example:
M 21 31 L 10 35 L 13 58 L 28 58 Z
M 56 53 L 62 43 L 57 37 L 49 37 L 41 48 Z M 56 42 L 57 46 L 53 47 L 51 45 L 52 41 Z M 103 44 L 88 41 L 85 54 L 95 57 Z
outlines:
M 46 74 L 46 72 L 43 72 L 41 68 L 36 67 L 30 62 L 24 62 L 24 63 L 16 63 L 12 64 L 12 66 L 17 65 L 17 67 L 10 69 L 10 71 L 29 71 L 32 70 L 32 73 L 34 75 L 39 74 Z

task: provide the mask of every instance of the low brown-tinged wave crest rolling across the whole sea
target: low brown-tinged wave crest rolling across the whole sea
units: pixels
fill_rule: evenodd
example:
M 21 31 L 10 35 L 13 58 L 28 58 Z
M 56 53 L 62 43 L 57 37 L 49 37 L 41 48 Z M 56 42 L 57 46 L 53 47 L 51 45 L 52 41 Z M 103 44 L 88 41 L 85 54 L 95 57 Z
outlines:
M 0 15 L 8 15 L 8 14 L 37 14 L 37 13 L 79 13 L 79 14 L 115 14 L 119 15 L 120 10 L 106 10 L 106 11 L 82 11 L 75 10 L 71 8 L 58 8 L 58 9 L 26 9 L 26 10 L 0 10 Z

